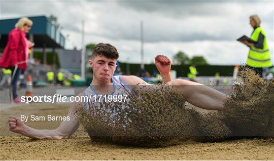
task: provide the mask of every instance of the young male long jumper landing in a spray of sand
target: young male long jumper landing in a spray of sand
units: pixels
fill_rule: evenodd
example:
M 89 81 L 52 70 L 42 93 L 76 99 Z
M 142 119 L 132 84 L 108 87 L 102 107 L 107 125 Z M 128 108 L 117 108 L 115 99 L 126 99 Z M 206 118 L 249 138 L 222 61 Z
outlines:
M 124 90 L 135 88 L 136 85 L 150 85 L 136 76 L 118 75 L 113 76 L 116 69 L 116 61 L 119 54 L 116 48 L 110 44 L 97 44 L 92 52 L 92 58 L 89 65 L 93 69 L 93 79 L 91 85 L 78 96 L 87 94 L 109 94 L 119 91 L 115 85 L 122 85 Z M 185 81 L 183 79 L 175 79 L 172 81 L 170 77 L 171 61 L 164 55 L 155 57 L 155 65 L 162 76 L 163 84 L 179 85 L 180 92 L 186 96 L 186 101 L 197 107 L 211 110 L 224 110 L 224 101 L 228 97 L 207 86 L 191 86 L 201 85 L 195 82 Z M 111 89 L 110 89 L 111 88 Z M 64 120 L 55 130 L 38 130 L 25 125 L 19 118 L 10 116 L 10 130 L 28 136 L 33 139 L 62 139 L 70 137 L 79 127 L 80 123 L 76 119 L 74 113 L 81 108 L 91 108 L 92 103 L 84 102 L 72 103 L 67 116 L 70 120 Z

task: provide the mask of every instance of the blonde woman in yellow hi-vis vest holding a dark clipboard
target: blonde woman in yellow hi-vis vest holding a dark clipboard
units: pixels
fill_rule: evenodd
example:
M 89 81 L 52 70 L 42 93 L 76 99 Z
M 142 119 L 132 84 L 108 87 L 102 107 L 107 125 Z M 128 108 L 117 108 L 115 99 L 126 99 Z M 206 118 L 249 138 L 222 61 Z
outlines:
M 247 66 L 262 77 L 263 68 L 272 66 L 272 63 L 266 42 L 266 35 L 260 27 L 260 23 L 261 20 L 258 15 L 250 16 L 250 25 L 254 28 L 250 38 L 256 43 L 249 43 L 248 41 L 242 41 L 242 43 L 250 48 Z

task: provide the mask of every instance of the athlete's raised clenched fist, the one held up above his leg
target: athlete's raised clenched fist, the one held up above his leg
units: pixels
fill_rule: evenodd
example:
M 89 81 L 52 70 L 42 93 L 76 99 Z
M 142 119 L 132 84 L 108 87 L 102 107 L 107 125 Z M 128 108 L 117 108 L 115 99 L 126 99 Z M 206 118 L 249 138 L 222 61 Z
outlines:
M 161 75 L 169 75 L 171 64 L 172 62 L 167 56 L 157 55 L 155 57 L 155 65 Z

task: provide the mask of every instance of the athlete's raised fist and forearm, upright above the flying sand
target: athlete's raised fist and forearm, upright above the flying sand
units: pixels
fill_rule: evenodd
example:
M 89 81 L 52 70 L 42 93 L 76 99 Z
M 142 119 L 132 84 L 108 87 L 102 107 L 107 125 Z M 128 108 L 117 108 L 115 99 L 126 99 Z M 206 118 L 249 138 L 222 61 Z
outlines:
M 164 55 L 157 55 L 155 57 L 155 65 L 162 76 L 163 85 L 172 81 L 170 76 L 171 60 Z

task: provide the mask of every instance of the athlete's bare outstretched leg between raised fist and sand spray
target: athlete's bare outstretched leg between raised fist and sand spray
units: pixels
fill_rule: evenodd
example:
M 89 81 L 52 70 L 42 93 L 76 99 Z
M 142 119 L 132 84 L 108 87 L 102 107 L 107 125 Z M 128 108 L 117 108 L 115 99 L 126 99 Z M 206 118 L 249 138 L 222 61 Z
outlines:
M 225 110 L 224 102 L 227 95 L 195 82 L 184 79 L 175 79 L 168 83 L 176 85 L 176 89 L 182 92 L 187 98 L 187 102 L 203 109 Z

